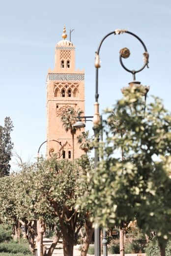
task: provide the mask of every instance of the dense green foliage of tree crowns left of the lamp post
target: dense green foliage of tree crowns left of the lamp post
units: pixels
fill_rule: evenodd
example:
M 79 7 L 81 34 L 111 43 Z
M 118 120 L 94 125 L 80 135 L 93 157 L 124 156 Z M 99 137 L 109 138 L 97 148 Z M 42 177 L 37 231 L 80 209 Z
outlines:
M 85 222 L 85 209 L 76 204 L 87 188 L 83 176 L 91 172 L 91 166 L 85 155 L 74 161 L 57 161 L 54 157 L 23 165 L 20 173 L 0 178 L 0 221 L 29 222 L 35 234 L 35 222 L 41 220 L 55 225 L 63 240 L 65 236 L 65 241 L 71 239 L 74 244 Z

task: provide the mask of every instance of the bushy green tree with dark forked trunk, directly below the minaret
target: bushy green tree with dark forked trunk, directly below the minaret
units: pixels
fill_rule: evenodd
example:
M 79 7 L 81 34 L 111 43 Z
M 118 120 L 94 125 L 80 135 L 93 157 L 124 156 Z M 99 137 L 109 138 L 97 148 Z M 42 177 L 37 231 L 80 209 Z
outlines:
M 63 237 L 64 256 L 73 255 L 76 237 L 85 222 L 85 212 L 76 208 L 76 202 L 86 189 L 80 179 L 90 166 L 88 162 L 86 156 L 74 161 L 40 159 L 20 176 L 19 219 L 36 220 L 40 240 L 45 224 L 53 220 L 55 224 L 56 220 Z M 41 252 L 40 256 L 43 248 Z

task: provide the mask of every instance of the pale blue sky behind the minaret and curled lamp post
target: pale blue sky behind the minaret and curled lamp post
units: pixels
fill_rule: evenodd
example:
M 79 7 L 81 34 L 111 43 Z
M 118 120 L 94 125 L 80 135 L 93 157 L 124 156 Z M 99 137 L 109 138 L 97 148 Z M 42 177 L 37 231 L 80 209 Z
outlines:
M 46 75 L 54 68 L 54 50 L 63 25 L 74 29 L 76 68 L 85 69 L 86 115 L 94 112 L 94 52 L 101 38 L 115 29 L 140 36 L 149 52 L 149 69 L 137 80 L 150 86 L 149 95 L 163 98 L 171 110 L 171 1 L 170 0 L 0 0 L 0 124 L 14 123 L 14 150 L 23 160 L 36 157 L 46 140 Z M 125 64 L 142 66 L 143 49 L 128 34 L 110 36 L 101 48 L 100 109 L 121 97 L 132 81 L 119 64 L 119 50 L 131 51 Z M 91 123 L 87 126 L 91 129 Z M 14 159 L 13 159 L 14 160 Z

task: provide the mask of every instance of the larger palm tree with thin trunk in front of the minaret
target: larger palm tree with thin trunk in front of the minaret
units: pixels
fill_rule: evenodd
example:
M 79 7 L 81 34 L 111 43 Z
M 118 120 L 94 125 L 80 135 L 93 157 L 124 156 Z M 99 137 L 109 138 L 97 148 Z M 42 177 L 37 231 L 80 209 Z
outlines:
M 61 122 L 63 123 L 63 127 L 65 128 L 66 132 L 70 131 L 72 135 L 72 157 L 74 160 L 74 135 L 76 134 L 77 128 L 73 127 L 73 125 L 77 122 L 77 117 L 81 115 L 83 111 L 75 110 L 73 107 L 68 107 L 66 110 L 63 111 L 61 116 Z

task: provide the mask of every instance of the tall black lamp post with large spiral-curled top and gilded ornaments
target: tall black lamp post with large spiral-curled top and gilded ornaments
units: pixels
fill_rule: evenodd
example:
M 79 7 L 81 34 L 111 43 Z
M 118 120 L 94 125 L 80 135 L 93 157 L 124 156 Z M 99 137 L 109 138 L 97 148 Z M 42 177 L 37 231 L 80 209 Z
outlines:
M 119 56 L 119 61 L 120 61 L 120 64 L 122 65 L 122 67 L 132 73 L 133 75 L 133 82 L 131 82 L 131 84 L 140 84 L 140 82 L 136 82 L 136 73 L 142 71 L 142 69 L 144 69 L 145 66 L 148 67 L 148 57 L 149 57 L 149 54 L 147 52 L 147 48 L 145 46 L 145 44 L 143 43 L 143 41 L 141 40 L 140 37 L 138 37 L 136 34 L 132 33 L 132 32 L 129 32 L 129 31 L 126 31 L 126 30 L 115 30 L 113 32 L 110 32 L 108 33 L 107 35 L 105 35 L 103 37 L 103 39 L 101 40 L 98 48 L 97 48 L 97 52 L 95 53 L 95 68 L 96 68 L 96 79 L 95 79 L 95 103 L 94 103 L 94 107 L 95 107 L 95 112 L 94 112 L 94 117 L 93 117 L 93 124 L 94 124 L 94 127 L 93 127 L 93 130 L 94 130 L 94 134 L 96 136 L 96 140 L 98 141 L 99 140 L 99 131 L 100 131 L 100 126 L 101 126 L 101 121 L 100 121 L 100 115 L 99 115 L 99 103 L 98 103 L 98 97 L 99 97 L 99 94 L 98 94 L 98 69 L 100 67 L 100 57 L 99 57 L 99 52 L 100 52 L 100 48 L 102 46 L 102 43 L 103 41 L 110 35 L 114 34 L 122 34 L 122 33 L 127 33 L 127 34 L 130 34 L 130 35 L 133 35 L 135 38 L 137 38 L 141 44 L 142 44 L 142 47 L 144 49 L 144 53 L 143 53 L 143 59 L 144 59 L 144 63 L 143 63 L 143 66 L 142 68 L 138 69 L 138 70 L 130 70 L 128 69 L 122 62 L 122 59 L 126 59 L 130 56 L 130 51 L 128 48 L 123 48 L 120 50 L 120 56 Z M 146 90 L 146 93 L 148 92 L 149 88 L 147 88 Z M 146 96 L 145 96 L 146 98 Z M 95 148 L 95 152 L 94 152 L 94 160 L 95 160 L 95 168 L 97 167 L 97 164 L 98 164 L 98 149 Z M 103 231 L 103 237 L 106 239 L 106 232 Z M 104 239 L 104 240 L 105 240 Z M 102 241 L 102 244 L 103 241 Z M 100 229 L 99 227 L 95 228 L 95 231 L 94 231 L 94 249 L 95 249 L 95 256 L 100 256 L 101 253 L 100 253 Z M 105 254 L 107 255 L 107 251 L 105 252 Z

